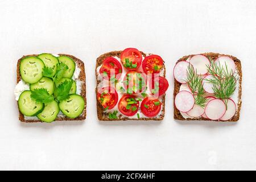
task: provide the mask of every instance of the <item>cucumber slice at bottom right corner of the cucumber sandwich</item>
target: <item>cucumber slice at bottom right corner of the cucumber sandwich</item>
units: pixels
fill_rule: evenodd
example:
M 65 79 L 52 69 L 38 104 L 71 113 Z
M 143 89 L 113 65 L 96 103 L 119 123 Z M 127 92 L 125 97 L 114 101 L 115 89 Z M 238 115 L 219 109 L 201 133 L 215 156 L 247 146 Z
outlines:
M 69 118 L 77 118 L 84 110 L 84 98 L 79 95 L 72 94 L 68 100 L 60 101 L 59 107 L 63 114 Z

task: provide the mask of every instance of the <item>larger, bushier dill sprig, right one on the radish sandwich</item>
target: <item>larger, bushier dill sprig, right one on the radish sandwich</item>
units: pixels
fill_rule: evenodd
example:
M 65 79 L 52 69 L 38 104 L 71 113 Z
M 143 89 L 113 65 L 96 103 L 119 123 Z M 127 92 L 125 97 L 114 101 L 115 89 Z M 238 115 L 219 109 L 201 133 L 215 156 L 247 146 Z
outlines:
M 212 83 L 215 97 L 224 100 L 227 104 L 227 98 L 230 98 L 236 90 L 237 78 L 233 71 L 228 71 L 226 64 L 224 68 L 220 63 L 215 63 L 210 57 L 209 60 L 210 65 L 207 65 L 207 68 L 212 78 L 206 80 Z

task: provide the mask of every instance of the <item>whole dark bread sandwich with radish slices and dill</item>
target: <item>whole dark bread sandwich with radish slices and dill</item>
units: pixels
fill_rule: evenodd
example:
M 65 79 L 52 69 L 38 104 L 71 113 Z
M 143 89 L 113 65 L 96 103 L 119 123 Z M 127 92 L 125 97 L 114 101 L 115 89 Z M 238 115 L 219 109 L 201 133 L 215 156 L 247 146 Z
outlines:
M 184 56 L 173 73 L 174 119 L 238 121 L 242 68 L 236 57 L 220 53 Z

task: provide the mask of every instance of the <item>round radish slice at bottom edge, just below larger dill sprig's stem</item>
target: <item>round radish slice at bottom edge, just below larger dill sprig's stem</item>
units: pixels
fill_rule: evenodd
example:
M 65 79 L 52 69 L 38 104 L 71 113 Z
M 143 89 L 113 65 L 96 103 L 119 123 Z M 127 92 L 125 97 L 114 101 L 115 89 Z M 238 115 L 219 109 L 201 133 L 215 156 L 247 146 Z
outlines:
M 212 120 L 220 119 L 225 114 L 225 112 L 225 103 L 217 98 L 209 101 L 205 107 L 205 115 L 207 115 L 207 117 Z

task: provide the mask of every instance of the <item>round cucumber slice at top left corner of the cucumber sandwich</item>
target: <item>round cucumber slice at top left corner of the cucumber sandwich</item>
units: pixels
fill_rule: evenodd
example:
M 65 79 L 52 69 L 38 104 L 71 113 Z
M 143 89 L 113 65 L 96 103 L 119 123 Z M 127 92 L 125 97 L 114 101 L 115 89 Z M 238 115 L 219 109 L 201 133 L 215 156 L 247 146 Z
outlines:
M 38 57 L 26 57 L 20 61 L 19 72 L 29 84 L 38 82 L 43 77 L 44 63 Z

